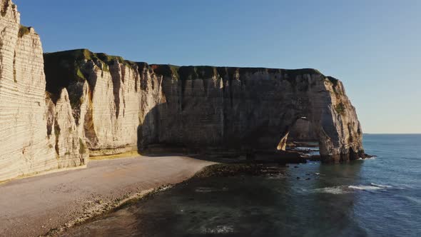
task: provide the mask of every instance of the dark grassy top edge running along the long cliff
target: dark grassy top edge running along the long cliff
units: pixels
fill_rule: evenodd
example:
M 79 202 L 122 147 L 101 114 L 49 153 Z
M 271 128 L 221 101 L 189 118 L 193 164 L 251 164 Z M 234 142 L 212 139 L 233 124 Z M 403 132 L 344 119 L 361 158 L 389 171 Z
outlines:
M 151 64 L 134 62 L 123 59 L 121 56 L 112 56 L 103 53 L 93 53 L 88 49 L 74 49 L 44 54 L 45 72 L 47 77 L 47 91 L 59 92 L 59 89 L 69 85 L 70 81 L 86 80 L 83 74 L 83 65 L 86 61 L 93 61 L 103 70 L 108 71 L 108 66 L 118 61 L 132 69 L 139 71 L 148 69 L 161 76 L 173 76 L 181 80 L 206 79 L 220 76 L 225 79 L 233 79 L 235 74 L 268 73 L 280 74 L 280 78 L 288 81 L 295 80 L 297 76 L 306 74 L 323 75 L 317 69 L 268 69 L 261 67 L 225 67 L 225 66 L 176 66 L 171 64 Z M 327 77 L 333 84 L 338 80 Z

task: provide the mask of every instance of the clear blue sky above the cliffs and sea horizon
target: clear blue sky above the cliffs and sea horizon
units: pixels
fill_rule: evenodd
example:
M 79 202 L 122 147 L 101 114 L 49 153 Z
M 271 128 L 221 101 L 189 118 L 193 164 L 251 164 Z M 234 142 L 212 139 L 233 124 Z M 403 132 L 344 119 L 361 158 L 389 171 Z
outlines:
M 44 51 L 158 64 L 315 68 L 365 133 L 421 133 L 419 0 L 14 0 Z

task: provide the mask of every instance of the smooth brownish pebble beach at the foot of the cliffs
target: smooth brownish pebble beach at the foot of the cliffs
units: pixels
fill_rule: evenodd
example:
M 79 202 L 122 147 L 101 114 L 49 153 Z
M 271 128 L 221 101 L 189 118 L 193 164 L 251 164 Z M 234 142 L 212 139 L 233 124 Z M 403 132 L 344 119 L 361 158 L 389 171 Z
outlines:
M 68 228 L 154 188 L 186 180 L 210 164 L 186 156 L 133 156 L 0 184 L 0 236 Z

